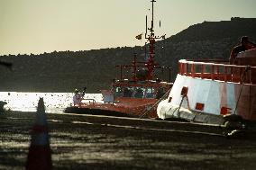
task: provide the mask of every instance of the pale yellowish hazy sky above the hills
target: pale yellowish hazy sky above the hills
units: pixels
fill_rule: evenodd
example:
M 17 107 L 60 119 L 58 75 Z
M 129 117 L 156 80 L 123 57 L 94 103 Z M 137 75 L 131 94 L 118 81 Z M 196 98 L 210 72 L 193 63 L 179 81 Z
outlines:
M 204 21 L 256 18 L 256 0 L 156 0 L 155 33 Z M 0 0 L 0 55 L 133 47 L 151 0 Z M 161 22 L 161 27 L 159 26 Z

